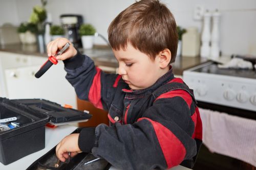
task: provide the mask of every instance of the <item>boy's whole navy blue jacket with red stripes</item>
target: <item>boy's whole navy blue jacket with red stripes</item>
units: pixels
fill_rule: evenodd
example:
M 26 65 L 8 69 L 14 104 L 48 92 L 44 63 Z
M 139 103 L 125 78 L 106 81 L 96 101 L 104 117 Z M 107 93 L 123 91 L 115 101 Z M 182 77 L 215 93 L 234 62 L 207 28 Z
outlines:
M 78 98 L 109 112 L 110 126 L 80 132 L 83 152 L 120 169 L 194 166 L 202 143 L 201 118 L 193 92 L 174 77 L 172 67 L 151 87 L 131 90 L 121 76 L 105 74 L 88 56 L 78 53 L 64 63 Z

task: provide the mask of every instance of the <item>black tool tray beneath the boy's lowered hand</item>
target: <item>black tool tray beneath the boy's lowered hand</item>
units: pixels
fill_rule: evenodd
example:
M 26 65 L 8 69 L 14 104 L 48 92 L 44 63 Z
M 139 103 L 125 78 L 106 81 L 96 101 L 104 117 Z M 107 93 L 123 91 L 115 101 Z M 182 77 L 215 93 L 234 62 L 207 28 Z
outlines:
M 78 133 L 80 129 L 76 129 L 73 133 Z M 56 147 L 51 149 L 48 153 L 33 162 L 27 170 L 107 170 L 111 167 L 111 164 L 104 159 L 99 159 L 97 161 L 84 163 L 96 159 L 91 153 L 79 153 L 70 159 L 70 162 L 61 162 L 59 167 L 54 167 L 55 163 L 58 161 L 55 152 Z

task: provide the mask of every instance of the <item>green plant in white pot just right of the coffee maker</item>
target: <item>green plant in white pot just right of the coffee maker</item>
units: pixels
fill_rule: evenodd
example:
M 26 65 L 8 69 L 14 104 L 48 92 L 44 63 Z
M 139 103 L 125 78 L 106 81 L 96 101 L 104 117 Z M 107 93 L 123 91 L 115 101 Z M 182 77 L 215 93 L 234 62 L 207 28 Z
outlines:
M 80 26 L 79 34 L 82 39 L 83 48 L 90 49 L 93 47 L 95 33 L 96 29 L 90 23 L 83 24 Z

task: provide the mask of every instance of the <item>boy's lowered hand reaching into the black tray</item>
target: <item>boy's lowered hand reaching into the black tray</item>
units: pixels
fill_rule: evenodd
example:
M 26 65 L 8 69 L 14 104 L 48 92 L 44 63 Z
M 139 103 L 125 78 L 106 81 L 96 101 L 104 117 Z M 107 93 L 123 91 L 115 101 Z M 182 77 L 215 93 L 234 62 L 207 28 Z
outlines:
M 61 162 L 65 162 L 70 156 L 73 157 L 78 153 L 81 153 L 78 147 L 78 136 L 79 133 L 74 133 L 63 138 L 56 147 L 56 156 Z

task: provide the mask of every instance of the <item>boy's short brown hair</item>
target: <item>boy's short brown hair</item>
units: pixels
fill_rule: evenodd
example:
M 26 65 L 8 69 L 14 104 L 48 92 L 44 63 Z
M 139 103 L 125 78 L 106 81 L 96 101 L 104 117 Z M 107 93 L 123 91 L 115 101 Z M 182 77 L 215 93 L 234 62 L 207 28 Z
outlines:
M 110 24 L 109 41 L 114 50 L 126 49 L 130 42 L 136 49 L 150 56 L 168 48 L 175 61 L 178 34 L 173 14 L 159 0 L 141 0 L 123 10 Z

